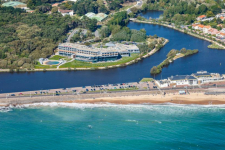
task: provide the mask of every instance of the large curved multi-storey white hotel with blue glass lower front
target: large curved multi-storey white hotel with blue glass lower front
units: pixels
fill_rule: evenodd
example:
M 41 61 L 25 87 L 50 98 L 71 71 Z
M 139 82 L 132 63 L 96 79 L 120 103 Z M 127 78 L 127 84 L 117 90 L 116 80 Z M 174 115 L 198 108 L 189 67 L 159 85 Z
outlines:
M 140 53 L 136 45 L 115 44 L 114 47 L 97 48 L 73 43 L 59 44 L 58 52 L 61 56 L 86 62 L 115 61 L 129 57 L 131 53 Z

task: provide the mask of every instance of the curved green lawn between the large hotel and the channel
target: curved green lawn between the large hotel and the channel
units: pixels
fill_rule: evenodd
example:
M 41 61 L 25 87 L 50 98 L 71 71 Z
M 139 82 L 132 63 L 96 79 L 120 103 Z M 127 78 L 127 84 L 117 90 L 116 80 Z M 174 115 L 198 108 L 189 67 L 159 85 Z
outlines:
M 108 67 L 112 65 L 121 65 L 125 64 L 129 61 L 135 60 L 139 57 L 139 54 L 132 54 L 131 57 L 123 57 L 122 59 L 116 61 L 116 62 L 105 62 L 105 63 L 90 63 L 90 62 L 83 62 L 74 60 L 72 62 L 66 63 L 60 68 L 98 68 L 98 67 Z

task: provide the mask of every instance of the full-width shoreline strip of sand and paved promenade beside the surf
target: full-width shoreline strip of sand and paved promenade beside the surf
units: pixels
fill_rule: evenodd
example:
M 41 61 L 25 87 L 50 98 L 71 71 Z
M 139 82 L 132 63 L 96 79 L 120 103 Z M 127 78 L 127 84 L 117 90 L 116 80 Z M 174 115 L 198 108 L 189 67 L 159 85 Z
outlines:
M 69 95 L 69 96 L 48 96 L 48 97 L 21 97 L 11 99 L 0 99 L 1 107 L 43 105 L 50 104 L 185 104 L 185 105 L 223 105 L 224 95 L 205 95 L 206 90 L 190 90 L 190 94 L 179 95 L 178 91 L 168 91 L 166 95 L 160 92 L 122 92 L 106 94 Z M 45 105 L 46 104 L 46 105 Z

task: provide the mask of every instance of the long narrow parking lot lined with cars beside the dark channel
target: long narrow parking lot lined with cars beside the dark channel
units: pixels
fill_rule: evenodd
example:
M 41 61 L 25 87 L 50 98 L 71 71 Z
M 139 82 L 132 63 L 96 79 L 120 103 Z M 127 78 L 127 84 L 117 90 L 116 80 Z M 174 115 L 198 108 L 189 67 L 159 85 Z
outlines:
M 10 97 L 33 97 L 33 96 L 47 96 L 47 95 L 64 95 L 74 94 L 79 95 L 83 93 L 107 93 L 113 91 L 129 91 L 129 90 L 151 90 L 156 88 L 154 82 L 131 82 L 131 83 L 118 83 L 118 84 L 106 84 L 106 85 L 92 85 L 73 88 L 61 88 L 61 89 L 49 89 L 49 90 L 37 90 L 26 92 L 14 92 L 0 94 L 0 98 Z

